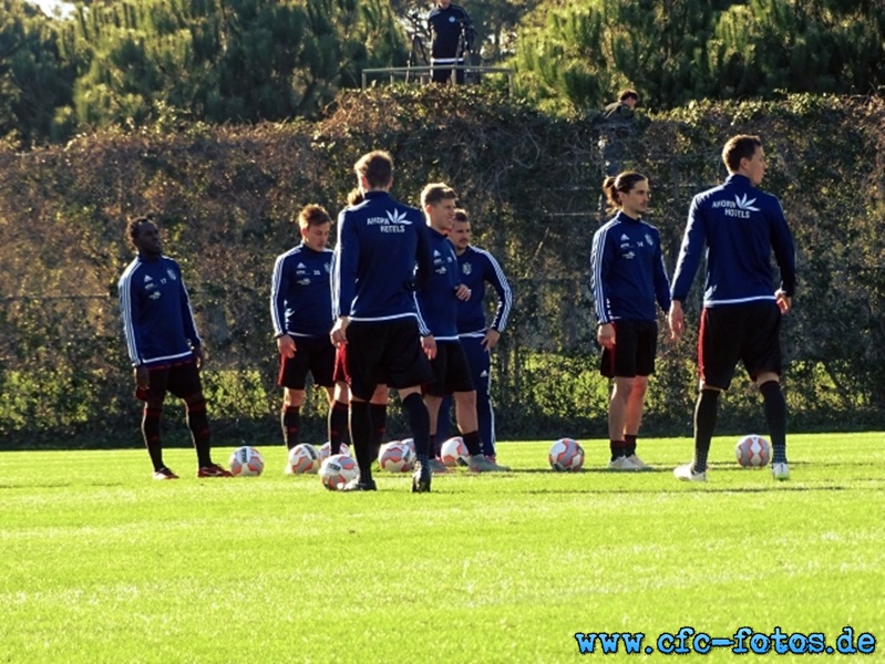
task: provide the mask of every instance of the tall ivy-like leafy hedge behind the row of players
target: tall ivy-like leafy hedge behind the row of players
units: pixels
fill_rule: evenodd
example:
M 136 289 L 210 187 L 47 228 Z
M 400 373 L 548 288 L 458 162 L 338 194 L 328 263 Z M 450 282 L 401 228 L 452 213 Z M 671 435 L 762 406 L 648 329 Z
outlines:
M 884 126 L 879 97 L 793 95 L 640 114 L 611 138 L 620 167 L 650 179 L 649 219 L 672 269 L 691 196 L 724 175 L 726 137 L 763 137 L 764 187 L 782 199 L 799 252 L 784 331 L 794 428 L 864 426 L 885 409 Z M 64 148 L 0 152 L 0 243 L 10 248 L 0 253 L 0 434 L 33 444 L 59 432 L 128 432 L 140 444 L 115 289 L 132 257 L 125 218 L 153 212 L 207 343 L 219 435 L 275 435 L 272 260 L 297 241 L 295 210 L 340 209 L 353 162 L 383 147 L 398 165 L 394 195 L 414 204 L 428 181 L 453 185 L 476 243 L 512 282 L 511 326 L 493 355 L 501 435 L 604 436 L 608 384 L 596 371 L 587 261 L 605 219 L 606 131 L 594 117 L 550 117 L 473 87 L 385 87 L 342 95 L 317 123 L 109 127 Z M 697 305 L 687 303 L 689 321 Z M 661 339 L 650 435 L 690 430 L 693 334 L 677 346 Z M 398 417 L 394 409 L 392 432 Z M 316 400 L 308 432 L 319 436 L 322 422 Z M 751 422 L 763 425 L 758 395 L 738 381 L 721 424 Z

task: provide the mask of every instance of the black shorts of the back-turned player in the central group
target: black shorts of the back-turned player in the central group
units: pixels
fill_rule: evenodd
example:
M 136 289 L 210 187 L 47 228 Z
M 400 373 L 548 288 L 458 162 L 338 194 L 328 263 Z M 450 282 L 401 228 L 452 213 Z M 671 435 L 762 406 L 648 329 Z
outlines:
M 344 354 L 350 392 L 369 401 L 380 383 L 390 387 L 416 387 L 433 380 L 430 361 L 421 347 L 418 321 L 353 321 L 347 329 Z

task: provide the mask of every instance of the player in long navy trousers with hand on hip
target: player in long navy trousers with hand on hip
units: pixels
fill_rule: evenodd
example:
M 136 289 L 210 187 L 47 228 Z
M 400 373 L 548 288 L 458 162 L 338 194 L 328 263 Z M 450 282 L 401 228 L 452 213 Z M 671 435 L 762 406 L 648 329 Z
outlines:
M 461 283 L 467 287 L 470 297 L 457 305 L 457 336 L 467 356 L 473 386 L 476 388 L 476 417 L 483 454 L 495 460 L 495 413 L 488 395 L 492 380 L 492 349 L 497 345 L 501 333 L 507 326 L 513 308 L 513 293 L 495 257 L 474 247 L 471 241 L 471 224 L 467 212 L 455 209 L 455 221 L 449 239 L 455 247 Z M 492 323 L 487 324 L 483 301 L 485 284 L 491 283 L 497 293 L 497 308 Z M 447 408 L 445 409 L 447 413 Z

